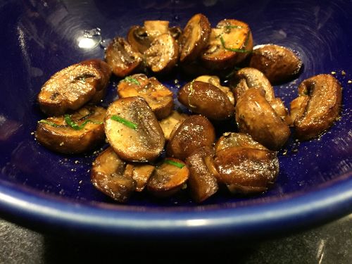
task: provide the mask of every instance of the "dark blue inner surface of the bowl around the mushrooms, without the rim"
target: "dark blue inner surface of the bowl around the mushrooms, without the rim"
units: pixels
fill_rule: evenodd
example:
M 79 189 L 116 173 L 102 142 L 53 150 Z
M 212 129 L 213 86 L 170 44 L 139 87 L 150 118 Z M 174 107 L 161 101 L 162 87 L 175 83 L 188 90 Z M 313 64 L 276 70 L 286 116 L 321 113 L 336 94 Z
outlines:
M 56 71 L 87 58 L 103 58 L 104 47 L 132 25 L 144 20 L 169 20 L 184 27 L 194 13 L 207 15 L 215 26 L 224 18 L 249 24 L 255 44 L 278 44 L 298 53 L 304 68 L 299 77 L 275 87 L 275 94 L 289 103 L 296 87 L 307 77 L 334 73 L 343 89 L 341 118 L 319 139 L 289 142 L 279 151 L 280 172 L 265 194 L 244 197 L 220 192 L 203 206 L 249 206 L 329 188 L 351 176 L 351 3 L 322 1 L 8 1 L 0 4 L 0 184 L 34 196 L 82 203 L 98 208 L 126 208 L 94 189 L 89 169 L 97 152 L 65 156 L 46 150 L 34 140 L 37 121 L 44 118 L 36 96 Z M 349 8 L 349 9 L 348 9 Z M 177 82 L 187 79 L 175 72 L 162 82 L 177 92 Z M 117 98 L 113 77 L 102 105 Z M 177 102 L 176 102 L 177 103 Z M 236 131 L 234 120 L 219 125 L 218 133 Z M 102 149 L 106 146 L 102 146 Z M 196 203 L 182 193 L 170 199 L 136 194 L 130 208 L 196 210 Z M 128 209 L 127 209 L 128 210 Z M 183 209 L 182 209 L 183 210 Z

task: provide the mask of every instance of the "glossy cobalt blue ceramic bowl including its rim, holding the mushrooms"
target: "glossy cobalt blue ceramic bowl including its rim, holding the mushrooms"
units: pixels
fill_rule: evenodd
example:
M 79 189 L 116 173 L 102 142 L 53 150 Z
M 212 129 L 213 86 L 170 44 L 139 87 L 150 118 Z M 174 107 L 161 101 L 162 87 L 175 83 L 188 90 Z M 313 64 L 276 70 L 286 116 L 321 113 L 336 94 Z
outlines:
M 327 222 L 352 212 L 351 1 L 110 1 L 0 2 L 0 215 L 36 230 L 129 237 L 253 237 Z M 144 20 L 184 27 L 195 13 L 212 25 L 244 20 L 255 44 L 297 51 L 304 69 L 275 87 L 286 106 L 297 85 L 333 73 L 343 88 L 341 119 L 319 139 L 290 138 L 279 152 L 280 172 L 270 191 L 253 197 L 216 194 L 196 204 L 187 195 L 133 196 L 120 205 L 89 181 L 96 153 L 65 156 L 44 149 L 33 132 L 43 118 L 36 96 L 57 70 L 103 58 L 104 46 Z M 177 91 L 175 78 L 163 82 Z M 103 105 L 116 98 L 112 78 Z M 221 127 L 219 127 L 221 129 Z

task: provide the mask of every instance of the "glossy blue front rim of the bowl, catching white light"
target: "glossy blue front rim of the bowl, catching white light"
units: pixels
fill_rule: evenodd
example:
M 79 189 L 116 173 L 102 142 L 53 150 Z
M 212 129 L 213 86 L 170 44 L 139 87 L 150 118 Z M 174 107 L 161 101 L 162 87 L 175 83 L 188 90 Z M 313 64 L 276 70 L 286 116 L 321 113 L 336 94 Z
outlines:
M 0 184 L 2 217 L 38 231 L 55 227 L 61 232 L 139 239 L 248 238 L 310 227 L 351 213 L 352 172 L 340 175 L 328 187 L 264 204 L 165 211 L 137 207 L 141 210 L 111 210 L 64 199 L 45 199 L 16 189 L 14 184 Z

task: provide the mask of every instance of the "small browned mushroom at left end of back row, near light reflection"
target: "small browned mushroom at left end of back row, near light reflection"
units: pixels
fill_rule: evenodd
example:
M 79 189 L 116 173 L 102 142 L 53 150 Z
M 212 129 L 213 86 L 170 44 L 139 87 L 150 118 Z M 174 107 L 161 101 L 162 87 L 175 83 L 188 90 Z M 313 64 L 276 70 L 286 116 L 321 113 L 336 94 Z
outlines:
M 105 51 L 105 60 L 118 77 L 125 77 L 142 67 L 142 55 L 122 37 L 115 37 Z

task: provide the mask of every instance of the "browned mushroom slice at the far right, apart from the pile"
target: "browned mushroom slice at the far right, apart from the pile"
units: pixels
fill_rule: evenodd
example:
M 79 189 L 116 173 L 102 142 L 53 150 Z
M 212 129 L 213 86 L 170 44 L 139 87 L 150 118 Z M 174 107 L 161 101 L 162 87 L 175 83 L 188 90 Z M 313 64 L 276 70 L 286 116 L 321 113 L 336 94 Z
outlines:
M 312 139 L 327 130 L 339 117 L 341 84 L 332 75 L 315 75 L 298 86 L 294 127 L 298 139 Z M 303 99 L 300 99 L 303 98 Z M 291 109 L 294 108 L 294 101 Z

